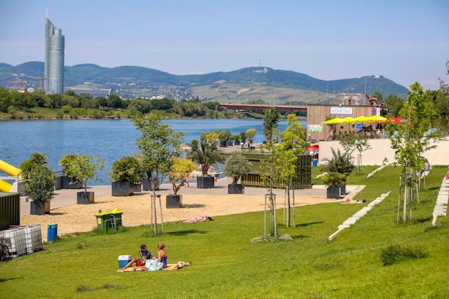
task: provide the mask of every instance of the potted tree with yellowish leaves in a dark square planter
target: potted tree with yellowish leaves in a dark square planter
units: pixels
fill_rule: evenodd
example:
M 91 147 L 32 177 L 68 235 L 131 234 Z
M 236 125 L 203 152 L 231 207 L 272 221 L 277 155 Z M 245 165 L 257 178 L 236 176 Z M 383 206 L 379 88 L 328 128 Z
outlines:
M 178 195 L 177 192 L 182 186 L 188 184 L 188 176 L 190 172 L 193 172 L 196 165 L 191 160 L 185 158 L 174 158 L 173 165 L 168 172 L 168 179 L 173 188 L 174 194 L 169 194 L 166 196 L 166 207 L 167 208 L 180 208 L 182 207 L 182 195 Z

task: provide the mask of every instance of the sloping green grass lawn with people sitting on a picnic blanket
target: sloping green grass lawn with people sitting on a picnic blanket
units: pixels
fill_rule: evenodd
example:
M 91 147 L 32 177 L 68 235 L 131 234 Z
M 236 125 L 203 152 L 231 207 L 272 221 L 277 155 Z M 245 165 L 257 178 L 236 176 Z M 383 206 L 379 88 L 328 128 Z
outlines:
M 314 167 L 318 168 L 318 167 Z M 368 167 L 369 168 L 369 167 Z M 447 167 L 433 167 L 427 190 L 413 206 L 413 220 L 396 225 L 399 168 L 370 179 L 349 176 L 367 187 L 368 201 L 391 194 L 328 242 L 337 226 L 365 205 L 317 204 L 296 209 L 296 228 L 282 225 L 290 242 L 250 244 L 262 235 L 263 213 L 214 217 L 205 223 L 166 223 L 153 237 L 147 225 L 116 234 L 66 235 L 44 250 L 0 264 L 0 298 L 447 298 L 449 221 L 431 226 L 436 194 Z M 375 168 L 375 167 L 374 167 Z M 315 183 L 315 182 L 314 182 Z M 168 262 L 192 261 L 177 271 L 116 273 L 117 257 L 138 253 L 141 243 L 156 251 L 166 242 Z M 384 266 L 382 249 L 420 246 L 426 258 Z

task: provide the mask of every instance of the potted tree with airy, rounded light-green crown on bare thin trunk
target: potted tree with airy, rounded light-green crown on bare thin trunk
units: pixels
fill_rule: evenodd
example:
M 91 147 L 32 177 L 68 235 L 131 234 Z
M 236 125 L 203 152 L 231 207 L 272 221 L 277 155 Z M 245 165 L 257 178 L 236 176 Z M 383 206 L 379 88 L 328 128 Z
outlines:
M 78 181 L 83 186 L 84 191 L 76 193 L 77 204 L 91 204 L 95 200 L 94 192 L 87 192 L 87 182 L 94 179 L 97 172 L 105 167 L 105 162 L 98 156 L 92 158 L 91 155 L 75 155 L 67 162 L 65 173 Z

